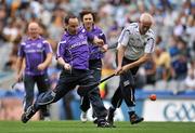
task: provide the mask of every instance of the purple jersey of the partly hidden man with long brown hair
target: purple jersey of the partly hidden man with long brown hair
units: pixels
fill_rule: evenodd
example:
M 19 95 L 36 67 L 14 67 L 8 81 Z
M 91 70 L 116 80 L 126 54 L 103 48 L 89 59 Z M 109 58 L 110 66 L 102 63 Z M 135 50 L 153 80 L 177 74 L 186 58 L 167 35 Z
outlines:
M 100 29 L 99 27 L 93 26 L 92 30 L 89 32 L 104 40 L 104 43 L 106 43 L 105 35 L 103 34 L 102 29 Z M 98 45 L 92 43 L 89 43 L 89 45 L 90 45 L 90 59 L 100 59 L 103 57 L 103 53 L 100 51 L 100 48 Z

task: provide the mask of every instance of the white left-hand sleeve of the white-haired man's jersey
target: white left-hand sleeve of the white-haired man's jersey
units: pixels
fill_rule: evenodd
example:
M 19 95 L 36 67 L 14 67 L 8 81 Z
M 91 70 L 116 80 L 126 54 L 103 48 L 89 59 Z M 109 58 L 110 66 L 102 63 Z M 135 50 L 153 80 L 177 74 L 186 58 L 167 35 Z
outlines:
M 130 37 L 130 29 L 125 28 L 121 34 L 120 37 L 118 39 L 118 43 L 119 45 L 122 44 L 123 46 L 127 46 L 128 42 L 129 42 L 129 37 Z

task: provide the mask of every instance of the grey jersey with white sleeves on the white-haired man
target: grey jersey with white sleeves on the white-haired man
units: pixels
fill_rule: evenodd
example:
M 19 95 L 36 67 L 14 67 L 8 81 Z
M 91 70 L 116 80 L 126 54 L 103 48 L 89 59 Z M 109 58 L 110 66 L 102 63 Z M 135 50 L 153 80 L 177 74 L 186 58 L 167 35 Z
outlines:
M 153 53 L 155 48 L 155 36 L 152 29 L 145 35 L 140 35 L 139 24 L 132 23 L 125 27 L 119 39 L 118 46 L 127 46 L 125 57 L 139 59 L 144 53 Z

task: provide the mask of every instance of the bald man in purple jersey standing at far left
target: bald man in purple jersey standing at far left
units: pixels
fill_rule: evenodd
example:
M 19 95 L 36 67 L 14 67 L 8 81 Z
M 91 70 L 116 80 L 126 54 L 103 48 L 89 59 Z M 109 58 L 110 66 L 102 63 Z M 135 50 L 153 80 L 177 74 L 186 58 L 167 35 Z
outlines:
M 21 43 L 17 58 L 16 81 L 21 81 L 24 72 L 25 102 L 24 111 L 27 110 L 34 102 L 34 87 L 37 83 L 39 94 L 48 90 L 49 79 L 47 68 L 52 61 L 52 49 L 50 43 L 39 35 L 39 25 L 30 23 L 28 25 L 28 38 Z M 23 71 L 23 62 L 25 69 Z M 47 106 L 41 109 L 40 118 L 49 119 Z

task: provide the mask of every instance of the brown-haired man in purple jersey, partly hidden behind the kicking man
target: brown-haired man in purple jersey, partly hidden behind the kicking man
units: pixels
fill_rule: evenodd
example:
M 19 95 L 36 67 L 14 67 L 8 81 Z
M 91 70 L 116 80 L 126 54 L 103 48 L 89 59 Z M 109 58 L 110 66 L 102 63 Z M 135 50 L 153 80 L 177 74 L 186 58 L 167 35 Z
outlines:
M 90 49 L 89 69 L 90 69 L 92 76 L 94 77 L 94 79 L 96 80 L 96 82 L 100 82 L 101 74 L 102 74 L 103 52 L 105 52 L 107 50 L 106 38 L 105 38 L 105 35 L 103 34 L 102 29 L 100 29 L 98 26 L 94 25 L 95 13 L 93 13 L 90 10 L 83 10 L 82 12 L 80 12 L 80 18 L 82 21 L 83 28 L 88 32 L 104 40 L 104 43 L 105 43 L 102 48 L 100 48 L 99 45 L 89 43 L 89 49 Z M 81 104 L 80 104 L 80 109 L 81 109 L 80 120 L 82 122 L 87 121 L 87 111 L 89 108 L 90 108 L 89 97 L 82 96 Z M 94 111 L 93 111 L 93 117 L 95 117 Z

